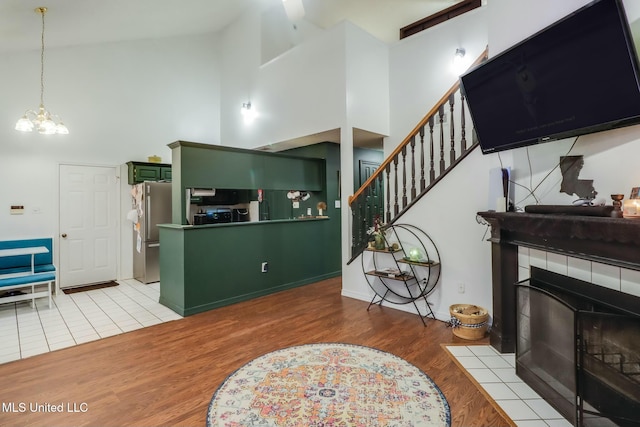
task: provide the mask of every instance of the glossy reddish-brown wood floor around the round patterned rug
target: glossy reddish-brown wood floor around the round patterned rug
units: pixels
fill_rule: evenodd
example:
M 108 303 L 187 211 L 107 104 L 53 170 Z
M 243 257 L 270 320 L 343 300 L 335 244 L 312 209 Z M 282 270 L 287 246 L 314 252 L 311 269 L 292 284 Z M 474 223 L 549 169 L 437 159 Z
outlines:
M 441 347 L 469 344 L 445 323 L 425 328 L 409 313 L 367 311 L 340 290 L 340 279 L 329 279 L 0 365 L 0 425 L 202 426 L 229 374 L 262 354 L 314 342 L 375 347 L 418 366 L 447 398 L 452 426 L 513 425 Z M 31 412 L 36 404 L 62 404 L 64 412 Z

